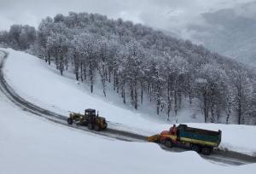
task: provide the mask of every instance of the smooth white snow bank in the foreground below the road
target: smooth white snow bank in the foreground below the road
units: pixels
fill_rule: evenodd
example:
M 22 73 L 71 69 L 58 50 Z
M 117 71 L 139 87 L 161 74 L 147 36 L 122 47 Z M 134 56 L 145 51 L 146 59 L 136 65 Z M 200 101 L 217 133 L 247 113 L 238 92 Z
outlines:
M 0 93 L 0 173 L 232 173 L 195 152 L 166 153 L 154 143 L 122 142 L 56 125 L 24 113 Z

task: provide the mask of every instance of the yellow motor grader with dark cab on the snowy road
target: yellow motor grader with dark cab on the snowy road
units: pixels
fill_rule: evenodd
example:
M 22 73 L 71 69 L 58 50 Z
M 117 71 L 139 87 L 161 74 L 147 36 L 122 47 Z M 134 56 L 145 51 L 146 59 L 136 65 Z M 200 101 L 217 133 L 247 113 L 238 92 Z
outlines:
M 106 130 L 108 124 L 106 119 L 99 116 L 99 113 L 96 114 L 95 109 L 85 109 L 84 114 L 81 113 L 70 113 L 67 118 L 67 124 L 72 125 L 84 125 L 87 126 L 89 130 L 102 131 Z

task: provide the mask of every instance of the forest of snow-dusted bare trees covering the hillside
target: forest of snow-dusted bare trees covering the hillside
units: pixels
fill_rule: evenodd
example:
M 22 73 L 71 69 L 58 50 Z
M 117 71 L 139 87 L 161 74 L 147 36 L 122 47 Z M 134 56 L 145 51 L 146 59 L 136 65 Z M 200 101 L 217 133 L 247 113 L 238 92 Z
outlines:
M 30 49 L 60 71 L 72 69 L 78 81 L 102 93 L 113 85 L 125 104 L 139 109 L 154 103 L 157 115 L 175 116 L 183 101 L 198 103 L 205 122 L 256 125 L 256 75 L 201 45 L 172 38 L 148 26 L 101 14 L 57 14 L 38 29 L 13 25 L 0 32 L 0 44 Z M 148 97 L 145 97 L 148 96 Z

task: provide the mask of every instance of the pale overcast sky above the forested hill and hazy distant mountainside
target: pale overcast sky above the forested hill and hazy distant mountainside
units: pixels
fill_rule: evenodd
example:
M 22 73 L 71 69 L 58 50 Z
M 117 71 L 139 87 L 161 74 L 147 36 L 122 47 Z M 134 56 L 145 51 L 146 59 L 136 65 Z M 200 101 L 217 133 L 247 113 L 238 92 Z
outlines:
M 233 8 L 253 0 L 0 0 L 0 30 L 14 23 L 38 26 L 40 20 L 69 11 L 106 14 L 160 29 L 180 32 L 203 23 L 201 13 Z M 183 33 L 185 34 L 185 33 Z

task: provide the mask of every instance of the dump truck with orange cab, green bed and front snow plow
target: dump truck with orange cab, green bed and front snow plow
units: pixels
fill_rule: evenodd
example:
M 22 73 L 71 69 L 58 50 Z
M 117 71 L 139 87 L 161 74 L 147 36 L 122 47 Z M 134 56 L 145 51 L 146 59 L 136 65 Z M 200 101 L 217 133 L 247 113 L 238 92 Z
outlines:
M 188 125 L 173 125 L 169 131 L 148 136 L 148 142 L 159 142 L 167 148 L 172 146 L 190 148 L 197 153 L 209 155 L 221 141 L 221 131 L 208 131 L 192 128 Z

